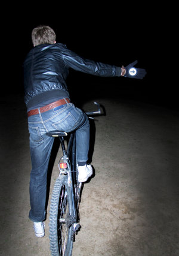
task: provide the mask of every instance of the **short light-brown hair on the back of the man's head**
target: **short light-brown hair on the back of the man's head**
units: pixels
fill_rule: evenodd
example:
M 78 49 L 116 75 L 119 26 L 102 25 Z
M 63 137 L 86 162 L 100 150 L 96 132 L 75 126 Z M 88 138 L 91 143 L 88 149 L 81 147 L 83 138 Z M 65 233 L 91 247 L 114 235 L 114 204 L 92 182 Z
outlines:
M 38 46 L 38 44 L 54 44 L 55 39 L 55 32 L 50 26 L 40 25 L 32 31 L 33 46 Z

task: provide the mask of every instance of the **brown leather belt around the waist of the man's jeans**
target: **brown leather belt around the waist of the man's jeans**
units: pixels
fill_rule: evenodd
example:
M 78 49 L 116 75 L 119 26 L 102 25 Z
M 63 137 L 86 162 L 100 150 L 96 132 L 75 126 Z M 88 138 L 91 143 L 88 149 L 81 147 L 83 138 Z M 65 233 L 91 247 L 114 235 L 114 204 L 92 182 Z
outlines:
M 44 113 L 48 110 L 54 109 L 54 107 L 58 107 L 61 105 L 65 105 L 67 103 L 70 103 L 70 100 L 68 98 L 62 99 L 62 100 L 58 100 L 58 101 L 54 101 L 54 103 L 48 104 L 44 107 L 40 107 L 40 112 Z M 27 112 L 27 116 L 33 116 L 33 115 L 38 115 L 39 114 L 39 109 L 33 109 L 30 110 L 29 112 Z

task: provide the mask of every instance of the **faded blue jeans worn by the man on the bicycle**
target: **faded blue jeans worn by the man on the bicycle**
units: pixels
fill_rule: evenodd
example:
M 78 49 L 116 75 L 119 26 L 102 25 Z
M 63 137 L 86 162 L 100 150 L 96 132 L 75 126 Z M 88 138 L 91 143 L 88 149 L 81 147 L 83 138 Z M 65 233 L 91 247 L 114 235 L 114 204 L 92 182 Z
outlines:
M 32 170 L 30 173 L 30 212 L 29 218 L 39 222 L 45 219 L 45 203 L 47 194 L 47 170 L 53 147 L 53 137 L 48 131 L 76 130 L 76 155 L 79 162 L 88 160 L 90 142 L 90 124 L 87 116 L 73 104 L 55 107 L 47 112 L 28 118 L 30 132 L 30 156 Z

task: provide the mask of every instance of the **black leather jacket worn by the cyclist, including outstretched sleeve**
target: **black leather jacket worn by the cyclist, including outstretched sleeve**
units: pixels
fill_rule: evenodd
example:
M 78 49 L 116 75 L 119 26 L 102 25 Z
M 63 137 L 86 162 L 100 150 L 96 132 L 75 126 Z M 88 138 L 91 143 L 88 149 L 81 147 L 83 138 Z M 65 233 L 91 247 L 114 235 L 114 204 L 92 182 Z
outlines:
M 24 61 L 24 101 L 27 104 L 42 92 L 62 90 L 69 95 L 66 78 L 69 68 L 95 76 L 120 76 L 121 68 L 81 58 L 64 44 L 40 44 Z

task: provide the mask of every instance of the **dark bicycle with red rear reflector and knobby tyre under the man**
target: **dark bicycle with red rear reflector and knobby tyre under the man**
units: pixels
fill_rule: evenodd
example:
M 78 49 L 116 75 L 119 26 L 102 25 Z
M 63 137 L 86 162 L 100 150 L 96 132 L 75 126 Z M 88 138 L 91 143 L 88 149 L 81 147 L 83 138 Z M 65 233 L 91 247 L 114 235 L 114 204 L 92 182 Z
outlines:
M 100 105 L 94 112 L 86 112 L 88 118 L 101 115 Z M 76 166 L 76 136 L 70 132 L 67 149 L 64 145 L 64 131 L 47 132 L 48 136 L 59 137 L 63 156 L 58 162 L 60 174 L 54 185 L 50 205 L 50 250 L 51 255 L 72 255 L 75 234 L 81 227 L 79 224 L 79 203 L 81 200 L 82 183 L 78 182 Z

